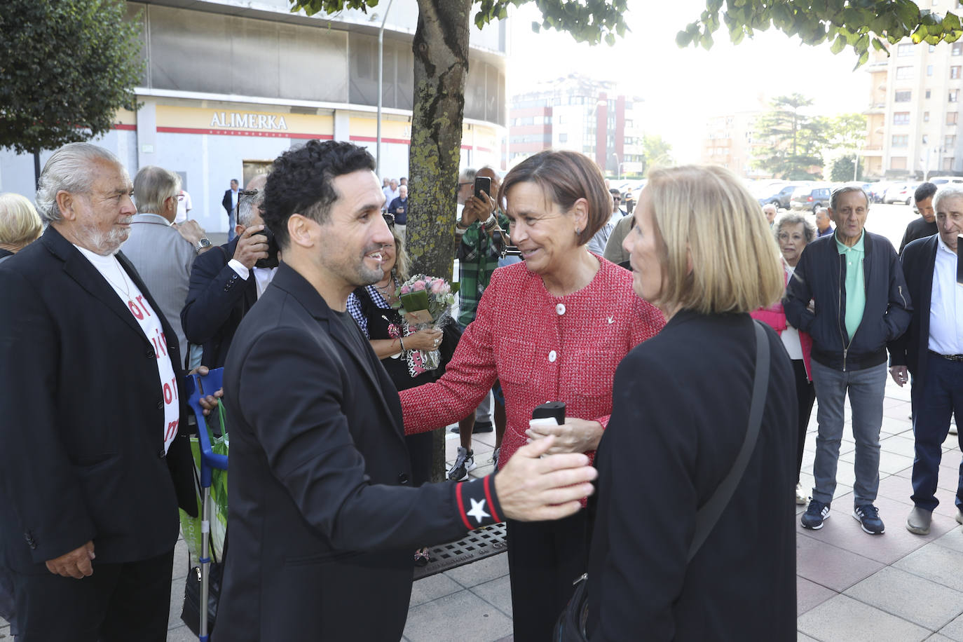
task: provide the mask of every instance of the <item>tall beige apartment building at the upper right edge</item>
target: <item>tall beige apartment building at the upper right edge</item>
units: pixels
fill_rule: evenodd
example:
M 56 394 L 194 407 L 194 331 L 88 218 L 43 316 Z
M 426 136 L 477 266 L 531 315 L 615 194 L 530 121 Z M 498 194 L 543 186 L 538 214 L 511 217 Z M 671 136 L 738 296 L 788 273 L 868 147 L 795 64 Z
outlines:
M 861 151 L 866 175 L 923 179 L 934 173 L 963 174 L 958 132 L 963 41 L 932 45 L 906 40 L 891 46 L 889 54 L 875 51 L 865 66 L 871 74 L 870 108 L 864 112 L 867 142 Z

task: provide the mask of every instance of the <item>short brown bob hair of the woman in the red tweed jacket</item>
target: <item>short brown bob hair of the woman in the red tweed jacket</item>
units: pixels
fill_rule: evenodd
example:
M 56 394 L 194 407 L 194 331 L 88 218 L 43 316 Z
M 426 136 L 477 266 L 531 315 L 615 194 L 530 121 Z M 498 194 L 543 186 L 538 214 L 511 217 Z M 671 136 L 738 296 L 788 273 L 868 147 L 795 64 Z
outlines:
M 602 171 L 585 154 L 546 149 L 512 167 L 498 191 L 498 204 L 503 210 L 508 209 L 508 191 L 516 183 L 538 185 L 562 212 L 569 212 L 575 201 L 585 198 L 587 223 L 579 233 L 580 245 L 591 241 L 612 217 L 612 194 L 605 187 Z

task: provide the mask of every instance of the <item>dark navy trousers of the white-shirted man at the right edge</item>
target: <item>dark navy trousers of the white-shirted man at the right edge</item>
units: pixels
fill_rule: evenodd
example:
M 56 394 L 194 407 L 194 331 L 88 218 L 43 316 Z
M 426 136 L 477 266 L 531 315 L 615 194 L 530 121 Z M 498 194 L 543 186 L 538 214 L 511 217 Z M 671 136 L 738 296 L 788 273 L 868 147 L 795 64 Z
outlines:
M 913 386 L 916 457 L 912 499 L 920 508 L 932 511 L 940 503 L 936 499 L 936 483 L 943 442 L 950 431 L 950 415 L 955 412 L 957 420 L 963 415 L 963 363 L 930 354 L 926 359 L 926 376 L 922 378 L 925 386 Z M 958 435 L 957 439 L 960 440 Z M 956 486 L 956 507 L 963 510 L 963 464 L 960 464 Z

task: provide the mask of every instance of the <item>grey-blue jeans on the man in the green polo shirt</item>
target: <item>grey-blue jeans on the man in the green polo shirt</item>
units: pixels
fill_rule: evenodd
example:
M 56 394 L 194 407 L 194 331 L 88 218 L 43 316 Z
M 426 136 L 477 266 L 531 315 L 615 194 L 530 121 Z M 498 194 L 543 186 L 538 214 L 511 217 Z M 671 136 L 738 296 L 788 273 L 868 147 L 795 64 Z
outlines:
M 820 404 L 816 415 L 820 431 L 816 436 L 816 461 L 813 463 L 813 476 L 816 477 L 813 499 L 830 503 L 836 492 L 836 467 L 848 392 L 852 408 L 852 438 L 856 442 L 853 503 L 857 506 L 872 503 L 879 490 L 879 427 L 883 424 L 886 364 L 842 372 L 826 368 L 814 360 L 812 372 Z

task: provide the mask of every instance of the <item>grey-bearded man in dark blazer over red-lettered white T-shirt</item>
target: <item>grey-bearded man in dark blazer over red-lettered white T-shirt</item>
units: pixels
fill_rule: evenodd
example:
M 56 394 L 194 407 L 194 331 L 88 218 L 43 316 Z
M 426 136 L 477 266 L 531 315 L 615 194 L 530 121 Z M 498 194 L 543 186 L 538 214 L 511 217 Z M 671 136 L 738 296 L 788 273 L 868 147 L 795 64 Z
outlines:
M 117 252 L 131 191 L 113 154 L 65 145 L 39 179 L 49 226 L 0 266 L 0 547 L 21 642 L 167 635 L 193 461 L 176 335 Z

